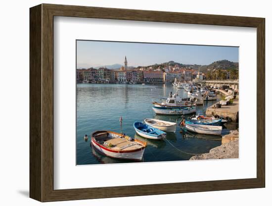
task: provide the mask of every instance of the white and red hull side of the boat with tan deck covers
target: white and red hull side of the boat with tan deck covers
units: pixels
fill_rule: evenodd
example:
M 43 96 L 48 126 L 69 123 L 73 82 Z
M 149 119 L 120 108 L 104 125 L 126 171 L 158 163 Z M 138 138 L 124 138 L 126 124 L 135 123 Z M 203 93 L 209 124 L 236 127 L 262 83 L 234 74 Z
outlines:
M 142 156 L 143 156 L 143 153 L 145 150 L 145 148 L 142 148 L 141 150 L 137 150 L 135 152 L 113 151 L 113 150 L 109 150 L 106 147 L 101 147 L 93 139 L 91 140 L 91 145 L 99 153 L 104 154 L 106 156 L 110 156 L 113 158 L 119 158 L 119 159 L 136 160 L 136 161 L 140 161 L 142 159 Z

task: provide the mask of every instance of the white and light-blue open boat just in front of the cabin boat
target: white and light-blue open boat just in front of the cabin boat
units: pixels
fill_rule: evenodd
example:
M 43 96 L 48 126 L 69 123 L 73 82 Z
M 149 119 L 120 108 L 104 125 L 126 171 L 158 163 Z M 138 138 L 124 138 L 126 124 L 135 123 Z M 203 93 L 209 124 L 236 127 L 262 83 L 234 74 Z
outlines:
M 196 112 L 196 106 L 190 107 L 159 107 L 152 106 L 156 114 L 184 115 Z

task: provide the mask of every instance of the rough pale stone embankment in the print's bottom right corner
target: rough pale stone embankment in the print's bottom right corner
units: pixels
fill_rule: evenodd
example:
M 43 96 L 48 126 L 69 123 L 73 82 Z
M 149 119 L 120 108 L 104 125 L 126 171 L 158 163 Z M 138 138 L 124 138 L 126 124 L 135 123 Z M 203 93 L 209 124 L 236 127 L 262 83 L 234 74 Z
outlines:
M 232 130 L 222 137 L 222 145 L 210 150 L 209 153 L 195 155 L 190 160 L 197 159 L 226 159 L 239 157 L 239 132 Z

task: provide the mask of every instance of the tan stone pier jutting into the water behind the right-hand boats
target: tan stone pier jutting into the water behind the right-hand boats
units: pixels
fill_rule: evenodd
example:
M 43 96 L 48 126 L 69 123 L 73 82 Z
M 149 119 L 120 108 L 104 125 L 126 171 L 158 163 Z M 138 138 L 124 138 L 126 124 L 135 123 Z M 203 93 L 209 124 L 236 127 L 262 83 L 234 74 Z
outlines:
M 219 103 L 219 102 L 218 102 Z M 221 108 L 216 108 L 216 104 L 211 105 L 206 110 L 207 116 L 218 115 L 224 118 L 230 118 L 234 122 L 238 122 L 239 116 L 239 99 L 233 99 L 233 103 L 229 105 L 222 105 Z

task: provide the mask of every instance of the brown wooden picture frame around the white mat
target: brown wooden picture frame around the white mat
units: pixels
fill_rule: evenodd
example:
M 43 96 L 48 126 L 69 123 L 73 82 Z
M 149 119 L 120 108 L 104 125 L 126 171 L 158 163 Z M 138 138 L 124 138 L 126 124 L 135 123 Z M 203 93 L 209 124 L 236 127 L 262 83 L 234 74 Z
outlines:
M 53 17 L 70 16 L 257 28 L 257 178 L 54 190 Z M 30 197 L 41 201 L 128 197 L 265 187 L 265 19 L 40 4 L 30 8 Z

